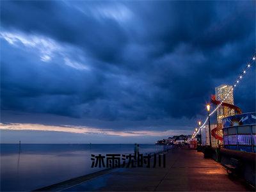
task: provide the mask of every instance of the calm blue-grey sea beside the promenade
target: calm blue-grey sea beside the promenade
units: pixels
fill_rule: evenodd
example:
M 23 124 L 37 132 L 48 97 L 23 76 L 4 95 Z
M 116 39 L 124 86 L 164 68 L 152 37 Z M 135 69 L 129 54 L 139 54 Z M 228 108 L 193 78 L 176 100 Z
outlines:
M 0 144 L 1 191 L 29 191 L 96 172 L 91 154 L 132 154 L 133 144 Z M 141 144 L 140 153 L 163 151 Z

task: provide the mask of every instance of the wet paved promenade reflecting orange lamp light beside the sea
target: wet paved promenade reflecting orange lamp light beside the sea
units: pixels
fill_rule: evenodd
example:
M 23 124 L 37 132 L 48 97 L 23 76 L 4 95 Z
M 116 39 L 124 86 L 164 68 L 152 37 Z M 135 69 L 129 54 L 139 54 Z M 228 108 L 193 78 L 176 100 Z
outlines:
M 64 191 L 246 191 L 221 164 L 201 152 L 175 148 L 166 168 L 118 168 Z

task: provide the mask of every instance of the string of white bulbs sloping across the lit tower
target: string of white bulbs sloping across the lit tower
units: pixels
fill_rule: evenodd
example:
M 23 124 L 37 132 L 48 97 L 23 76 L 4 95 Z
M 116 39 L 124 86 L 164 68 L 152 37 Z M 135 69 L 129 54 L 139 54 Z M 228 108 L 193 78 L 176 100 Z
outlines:
M 256 54 L 254 54 L 253 57 L 251 58 L 251 60 L 246 64 L 246 67 L 244 67 L 244 69 L 241 72 L 241 74 L 239 74 L 239 76 L 237 77 L 236 81 L 233 83 L 232 88 L 230 88 L 230 90 L 228 91 L 227 95 L 224 97 L 224 99 L 221 100 L 220 104 L 218 104 L 216 106 L 216 108 L 209 114 L 209 116 L 213 115 L 217 111 L 217 109 L 220 108 L 220 106 L 228 98 L 230 93 L 232 93 L 232 91 L 237 87 L 237 85 L 240 83 L 241 79 L 243 79 L 243 76 L 245 76 L 247 70 L 252 66 L 253 61 L 256 61 Z M 204 124 L 202 124 L 198 129 L 196 129 L 195 132 L 193 132 L 192 138 L 195 138 L 196 134 L 198 134 L 200 129 L 202 129 L 205 126 L 209 116 L 207 116 L 207 118 L 205 119 Z

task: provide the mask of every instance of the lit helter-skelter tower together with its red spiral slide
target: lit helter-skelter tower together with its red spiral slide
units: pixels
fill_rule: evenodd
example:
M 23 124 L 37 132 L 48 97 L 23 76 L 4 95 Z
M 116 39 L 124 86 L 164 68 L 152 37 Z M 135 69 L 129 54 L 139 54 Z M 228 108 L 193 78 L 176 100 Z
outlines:
M 227 84 L 222 84 L 215 88 L 216 95 L 211 95 L 211 102 L 214 105 L 221 105 L 220 108 L 217 109 L 217 127 L 212 129 L 211 134 L 217 140 L 223 141 L 223 133 L 222 133 L 222 119 L 227 116 L 232 116 L 236 114 L 241 114 L 242 111 L 239 107 L 234 105 L 234 95 L 232 86 Z M 226 95 L 228 97 L 225 99 L 225 102 L 221 102 Z

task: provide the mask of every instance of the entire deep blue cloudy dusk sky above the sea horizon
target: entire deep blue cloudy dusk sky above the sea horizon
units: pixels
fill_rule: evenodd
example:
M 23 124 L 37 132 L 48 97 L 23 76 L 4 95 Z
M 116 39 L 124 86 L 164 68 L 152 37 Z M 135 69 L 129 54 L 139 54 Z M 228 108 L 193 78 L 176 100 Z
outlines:
M 154 143 L 250 61 L 255 1 L 2 1 L 0 40 L 2 143 Z

